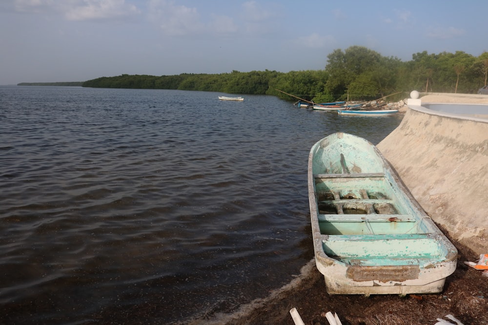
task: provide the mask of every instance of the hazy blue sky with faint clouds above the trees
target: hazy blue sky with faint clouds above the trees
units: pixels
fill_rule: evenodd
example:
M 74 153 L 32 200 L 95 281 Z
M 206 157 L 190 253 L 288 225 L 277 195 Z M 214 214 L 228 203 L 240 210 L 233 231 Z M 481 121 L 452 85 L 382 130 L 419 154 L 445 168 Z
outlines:
M 121 74 L 324 69 L 383 56 L 488 51 L 485 0 L 1 0 L 0 85 Z

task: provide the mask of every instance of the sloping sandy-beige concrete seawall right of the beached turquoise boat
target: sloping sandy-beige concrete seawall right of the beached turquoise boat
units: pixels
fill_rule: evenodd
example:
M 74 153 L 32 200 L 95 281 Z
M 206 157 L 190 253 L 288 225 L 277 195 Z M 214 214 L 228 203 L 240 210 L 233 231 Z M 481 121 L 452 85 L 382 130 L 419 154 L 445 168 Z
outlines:
M 488 104 L 488 96 L 477 95 L 421 100 Z M 488 253 L 488 106 L 486 114 L 444 115 L 411 107 L 378 144 L 427 214 L 476 254 Z

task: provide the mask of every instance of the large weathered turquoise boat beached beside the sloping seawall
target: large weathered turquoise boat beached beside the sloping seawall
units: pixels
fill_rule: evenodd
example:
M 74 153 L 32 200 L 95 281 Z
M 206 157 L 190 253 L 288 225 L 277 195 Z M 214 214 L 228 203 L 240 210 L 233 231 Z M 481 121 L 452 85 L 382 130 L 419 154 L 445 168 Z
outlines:
M 345 133 L 308 157 L 315 262 L 329 294 L 441 292 L 457 250 L 378 149 Z

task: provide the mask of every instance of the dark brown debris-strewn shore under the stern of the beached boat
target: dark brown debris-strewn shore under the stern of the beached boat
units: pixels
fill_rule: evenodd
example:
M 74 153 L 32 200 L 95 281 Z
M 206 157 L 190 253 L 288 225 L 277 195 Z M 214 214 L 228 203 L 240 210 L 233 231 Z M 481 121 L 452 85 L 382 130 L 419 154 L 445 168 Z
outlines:
M 437 318 L 448 314 L 464 325 L 488 324 L 488 277 L 464 264 L 476 262 L 479 256 L 451 241 L 459 252 L 458 264 L 441 293 L 406 297 L 329 295 L 322 274 L 311 262 L 302 279 L 260 301 L 257 308 L 244 308 L 239 315 L 215 323 L 207 321 L 229 325 L 294 325 L 289 310 L 296 307 L 305 325 L 328 325 L 325 318 L 328 311 L 337 313 L 343 325 L 434 325 Z

